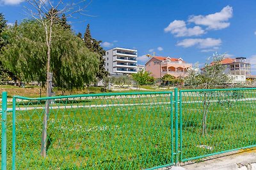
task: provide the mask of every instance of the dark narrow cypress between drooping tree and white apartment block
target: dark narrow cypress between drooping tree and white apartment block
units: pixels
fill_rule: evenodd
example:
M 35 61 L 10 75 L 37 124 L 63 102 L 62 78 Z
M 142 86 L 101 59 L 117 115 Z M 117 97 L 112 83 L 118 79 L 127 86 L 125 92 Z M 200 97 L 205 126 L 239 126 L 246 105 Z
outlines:
M 108 76 L 108 71 L 106 71 L 104 67 L 105 60 L 103 58 L 103 56 L 106 55 L 106 51 L 100 46 L 101 42 L 102 41 L 97 41 L 97 39 L 92 38 L 90 24 L 88 24 L 84 33 L 84 43 L 91 52 L 96 52 L 99 54 L 99 71 L 96 74 L 99 80 L 102 80 L 105 76 Z

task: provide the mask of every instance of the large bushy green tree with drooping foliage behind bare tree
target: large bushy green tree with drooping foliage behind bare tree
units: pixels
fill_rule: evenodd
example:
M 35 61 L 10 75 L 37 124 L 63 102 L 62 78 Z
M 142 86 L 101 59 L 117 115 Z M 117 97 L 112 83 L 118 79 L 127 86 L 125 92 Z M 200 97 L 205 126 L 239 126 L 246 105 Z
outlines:
M 80 38 L 62 25 L 54 25 L 52 29 L 58 30 L 52 37 L 51 50 L 54 84 L 61 89 L 83 88 L 84 84 L 90 84 L 98 71 L 99 55 L 90 52 Z M 23 81 L 45 81 L 47 46 L 40 23 L 24 21 L 4 34 L 9 37 L 9 44 L 2 50 L 4 66 Z

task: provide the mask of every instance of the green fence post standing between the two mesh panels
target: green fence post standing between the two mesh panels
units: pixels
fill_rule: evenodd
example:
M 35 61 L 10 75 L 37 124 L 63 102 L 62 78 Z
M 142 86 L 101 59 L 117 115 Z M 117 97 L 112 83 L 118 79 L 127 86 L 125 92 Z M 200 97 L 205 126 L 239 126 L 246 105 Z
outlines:
M 179 162 L 179 134 L 178 134 L 178 89 L 174 89 L 175 100 L 175 164 Z

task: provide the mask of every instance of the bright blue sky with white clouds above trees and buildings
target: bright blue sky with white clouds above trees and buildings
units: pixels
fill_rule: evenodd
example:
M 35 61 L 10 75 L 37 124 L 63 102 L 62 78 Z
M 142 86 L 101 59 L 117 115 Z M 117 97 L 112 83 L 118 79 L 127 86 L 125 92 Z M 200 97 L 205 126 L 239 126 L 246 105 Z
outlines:
M 54 1 L 53 1 L 54 2 Z M 8 23 L 27 18 L 26 2 L 0 0 L 0 12 Z M 246 57 L 256 74 L 255 0 L 93 0 L 88 15 L 72 22 L 75 32 L 90 24 L 92 36 L 113 47 L 138 50 L 138 63 L 145 54 L 181 57 L 204 63 L 214 52 L 227 57 Z

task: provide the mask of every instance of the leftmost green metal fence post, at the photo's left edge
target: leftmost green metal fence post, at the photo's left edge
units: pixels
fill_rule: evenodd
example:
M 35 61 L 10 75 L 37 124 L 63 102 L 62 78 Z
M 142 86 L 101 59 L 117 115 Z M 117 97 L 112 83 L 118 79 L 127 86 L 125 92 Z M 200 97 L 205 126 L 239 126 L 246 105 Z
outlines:
M 1 146 L 1 169 L 6 170 L 6 115 L 7 115 L 7 92 L 2 92 L 2 146 Z

